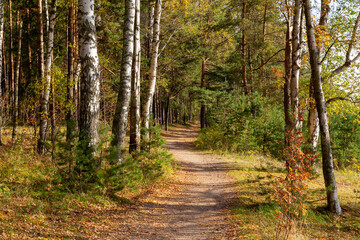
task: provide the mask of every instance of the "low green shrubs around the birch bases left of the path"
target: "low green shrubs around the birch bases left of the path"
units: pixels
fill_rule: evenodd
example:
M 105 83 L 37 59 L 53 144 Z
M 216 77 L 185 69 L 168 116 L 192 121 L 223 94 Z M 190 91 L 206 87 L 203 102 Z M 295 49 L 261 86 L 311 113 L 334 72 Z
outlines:
M 116 149 L 106 147 L 110 135 L 110 128 L 103 126 L 98 148 L 90 151 L 86 151 L 86 141 L 58 144 L 55 178 L 63 191 L 115 196 L 124 188 L 144 188 L 171 171 L 172 157 L 161 148 L 165 141 L 159 127 L 150 128 L 150 139 L 144 143 L 149 151 L 135 152 L 121 163 L 116 162 Z

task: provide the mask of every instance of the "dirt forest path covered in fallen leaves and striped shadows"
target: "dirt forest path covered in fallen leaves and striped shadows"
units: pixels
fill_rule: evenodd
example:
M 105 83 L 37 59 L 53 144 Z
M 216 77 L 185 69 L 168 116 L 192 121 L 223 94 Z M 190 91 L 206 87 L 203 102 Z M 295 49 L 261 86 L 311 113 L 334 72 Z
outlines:
M 140 199 L 126 239 L 234 239 L 230 206 L 235 196 L 230 166 L 196 151 L 198 128 L 172 128 L 166 147 L 180 164 L 170 182 Z

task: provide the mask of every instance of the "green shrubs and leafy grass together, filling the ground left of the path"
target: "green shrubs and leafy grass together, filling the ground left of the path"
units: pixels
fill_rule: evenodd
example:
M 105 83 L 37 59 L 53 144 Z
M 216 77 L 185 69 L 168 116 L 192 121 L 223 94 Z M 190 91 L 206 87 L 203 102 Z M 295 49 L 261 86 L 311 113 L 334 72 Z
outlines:
M 58 145 L 52 156 L 38 155 L 30 130 L 22 130 L 24 137 L 16 146 L 0 147 L 1 239 L 87 236 L 63 224 L 78 221 L 76 212 L 104 211 L 109 206 L 124 208 L 123 204 L 132 202 L 176 166 L 171 154 L 161 147 L 164 140 L 158 128 L 151 130 L 149 152 L 128 154 L 121 164 L 113 162 L 114 150 L 108 147 L 106 129 L 98 156 L 91 158 L 81 155 L 79 143 L 73 144 L 71 150 L 66 144 Z M 5 144 L 10 142 L 10 136 L 11 130 L 4 129 Z M 94 165 L 78 171 L 79 162 Z

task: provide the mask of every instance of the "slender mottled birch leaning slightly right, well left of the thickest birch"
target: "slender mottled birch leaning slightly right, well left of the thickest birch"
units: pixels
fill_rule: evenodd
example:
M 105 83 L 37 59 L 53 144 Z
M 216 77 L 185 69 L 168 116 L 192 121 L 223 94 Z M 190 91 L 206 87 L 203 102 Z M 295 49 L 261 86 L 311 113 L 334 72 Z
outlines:
M 40 106 L 40 131 L 38 141 L 38 152 L 45 153 L 45 142 L 48 132 L 48 120 L 49 120 L 49 98 L 50 98 L 50 85 L 51 85 L 51 69 L 52 69 L 52 53 L 54 48 L 54 31 L 55 31 L 55 18 L 56 18 L 56 3 L 57 0 L 52 0 L 50 10 L 49 30 L 47 37 L 47 53 L 45 64 L 45 79 L 43 81 L 44 89 L 41 96 Z

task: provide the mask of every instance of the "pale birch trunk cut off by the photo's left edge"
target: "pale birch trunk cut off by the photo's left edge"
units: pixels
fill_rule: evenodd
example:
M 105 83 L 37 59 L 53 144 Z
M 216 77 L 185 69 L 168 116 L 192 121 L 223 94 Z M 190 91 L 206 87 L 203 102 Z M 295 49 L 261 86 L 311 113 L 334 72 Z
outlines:
M 2 122 L 3 122 L 3 92 L 1 88 L 1 80 L 3 76 L 3 42 L 4 42 L 4 1 L 0 0 L 0 145 L 3 145 L 2 143 Z M 5 71 L 4 71 L 5 72 Z M 5 74 L 4 74 L 5 75 Z

